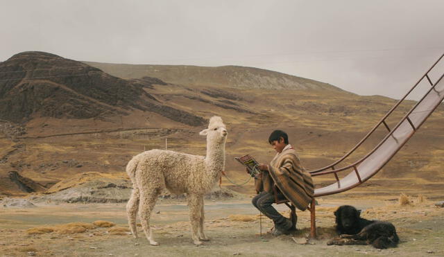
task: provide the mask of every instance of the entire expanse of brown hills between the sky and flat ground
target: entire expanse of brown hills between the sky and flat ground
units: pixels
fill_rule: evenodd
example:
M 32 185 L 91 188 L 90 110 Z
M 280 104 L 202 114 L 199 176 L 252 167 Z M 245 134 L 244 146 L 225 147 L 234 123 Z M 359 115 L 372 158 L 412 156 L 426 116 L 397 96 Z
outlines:
M 225 171 L 233 181 L 245 179 L 234 157 L 248 153 L 271 160 L 274 151 L 266 139 L 276 129 L 289 134 L 305 168 L 321 168 L 347 153 L 397 103 L 248 67 L 103 66 L 108 67 L 42 52 L 0 62 L 0 197 L 32 188 L 32 181 L 15 179 L 10 171 L 47 187 L 81 172 L 123 172 L 144 150 L 204 155 L 205 138 L 198 132 L 207 125 L 204 118 L 214 115 L 228 128 Z M 386 126 L 394 127 L 415 104 L 400 105 Z M 356 190 L 441 193 L 443 107 Z M 379 126 L 351 159 L 372 150 L 385 134 L 386 127 Z M 314 180 L 317 186 L 335 181 L 333 176 Z M 223 185 L 231 186 L 226 179 Z M 254 193 L 251 184 L 232 188 Z

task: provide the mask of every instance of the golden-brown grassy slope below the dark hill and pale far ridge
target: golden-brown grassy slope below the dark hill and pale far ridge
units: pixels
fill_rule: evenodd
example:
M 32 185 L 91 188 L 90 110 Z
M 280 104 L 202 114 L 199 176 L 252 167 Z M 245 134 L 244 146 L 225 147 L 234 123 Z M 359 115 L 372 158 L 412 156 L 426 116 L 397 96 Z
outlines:
M 237 68 L 238 73 L 255 71 Z M 163 76 L 172 78 L 174 74 L 165 72 Z M 350 150 L 396 102 L 382 96 L 357 96 L 326 84 L 325 88 L 293 90 L 238 87 L 228 82 L 219 85 L 220 73 L 216 76 L 218 82 L 206 84 L 210 80 L 208 74 L 205 80 L 200 81 L 197 73 L 189 73 L 196 81 L 186 85 L 172 84 L 172 81 L 164 80 L 161 76 L 160 81 L 146 73 L 126 76 L 125 81 L 136 88 L 133 83 L 150 83 L 150 86 L 139 87 L 142 87 L 144 94 L 155 98 L 158 106 L 196 117 L 222 116 L 228 128 L 226 171 L 231 179 L 239 183 L 247 177 L 233 157 L 249 153 L 261 162 L 270 161 L 274 152 L 266 139 L 276 128 L 289 133 L 290 141 L 300 153 L 306 168 L 321 168 Z M 250 77 L 244 74 L 239 78 Z M 178 76 L 172 80 L 180 79 Z M 242 85 L 250 85 L 253 81 L 243 82 Z M 388 118 L 388 125 L 393 127 L 414 104 L 410 101 L 402 105 Z M 129 103 L 126 106 L 130 106 Z M 9 130 L 20 126 L 0 126 L 0 129 L 5 128 L 0 130 L 0 172 L 16 170 L 23 177 L 48 187 L 60 179 L 82 172 L 120 174 L 133 155 L 152 148 L 165 148 L 166 145 L 169 150 L 205 154 L 205 139 L 198 136 L 205 124 L 191 127 L 162 116 L 162 112 L 149 112 L 131 106 L 119 110 L 128 115 L 110 112 L 110 116 L 86 119 L 33 116 L 35 118 L 24 124 L 22 129 L 12 133 L 14 140 L 8 136 L 11 134 Z M 442 196 L 443 118 L 444 108 L 441 106 L 375 178 L 350 192 Z M 385 127 L 380 128 L 351 160 L 371 150 L 385 130 Z M 316 177 L 315 182 L 321 186 L 331 179 L 334 177 Z M 223 185 L 241 192 L 253 192 L 251 181 L 244 187 L 236 187 L 223 179 Z

